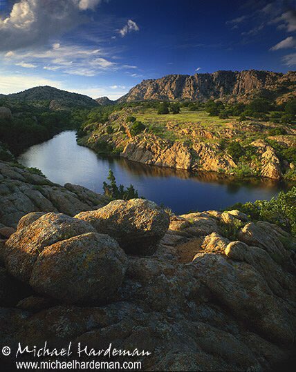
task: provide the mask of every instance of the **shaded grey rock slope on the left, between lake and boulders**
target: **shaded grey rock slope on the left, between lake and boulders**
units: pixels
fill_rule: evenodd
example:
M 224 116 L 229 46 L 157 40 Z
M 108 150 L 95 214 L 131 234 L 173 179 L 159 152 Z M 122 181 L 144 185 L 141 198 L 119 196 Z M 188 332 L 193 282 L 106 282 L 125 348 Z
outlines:
M 109 202 L 107 197 L 82 186 L 62 187 L 4 161 L 0 161 L 0 197 L 0 224 L 12 227 L 30 212 L 61 212 L 73 216 Z

